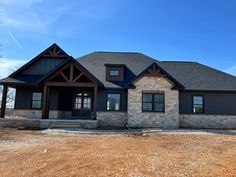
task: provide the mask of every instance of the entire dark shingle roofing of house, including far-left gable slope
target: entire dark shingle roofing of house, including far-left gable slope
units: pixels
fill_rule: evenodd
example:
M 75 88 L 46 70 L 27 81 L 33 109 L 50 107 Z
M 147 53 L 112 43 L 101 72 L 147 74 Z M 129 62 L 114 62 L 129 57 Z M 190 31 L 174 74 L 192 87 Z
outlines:
M 59 46 L 53 44 L 34 59 L 29 61 L 19 70 L 11 74 L 9 77 L 0 80 L 0 84 L 23 84 L 37 85 L 58 69 L 63 64 L 58 65 L 45 75 L 22 75 L 21 71 L 31 66 L 32 63 L 39 60 L 41 56 L 63 57 L 65 63 L 70 60 Z M 153 63 L 168 75 L 168 78 L 174 82 L 179 88 L 192 91 L 235 91 L 236 77 L 224 73 L 222 71 L 210 68 L 197 62 L 183 61 L 158 61 L 142 53 L 137 52 L 93 52 L 88 55 L 76 59 L 78 65 L 81 64 L 87 73 L 91 74 L 97 81 L 108 88 L 127 88 L 137 77 L 141 77 L 142 73 Z M 106 66 L 122 65 L 124 66 L 123 81 L 106 81 Z

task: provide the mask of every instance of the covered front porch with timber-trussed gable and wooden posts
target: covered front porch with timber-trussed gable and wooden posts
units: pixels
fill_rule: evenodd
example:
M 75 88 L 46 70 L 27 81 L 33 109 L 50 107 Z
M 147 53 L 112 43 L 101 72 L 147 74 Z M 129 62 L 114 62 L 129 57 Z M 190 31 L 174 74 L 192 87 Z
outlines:
M 9 87 L 16 88 L 15 116 L 40 119 L 96 119 L 97 91 L 103 85 L 76 60 L 69 59 L 41 78 L 37 84 L 18 80 L 1 81 L 3 85 L 0 117 L 5 117 Z M 25 101 L 28 100 L 28 101 Z M 24 106 L 27 104 L 28 106 Z M 20 109 L 19 109 L 20 108 Z M 25 114 L 26 116 L 21 116 Z M 28 116 L 27 116 L 28 115 Z

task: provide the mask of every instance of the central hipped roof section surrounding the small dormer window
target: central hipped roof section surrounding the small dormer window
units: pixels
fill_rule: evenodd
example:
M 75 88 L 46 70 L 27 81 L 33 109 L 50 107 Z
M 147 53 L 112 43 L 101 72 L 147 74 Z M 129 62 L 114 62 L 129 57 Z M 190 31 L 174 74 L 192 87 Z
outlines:
M 156 60 L 136 52 L 93 52 L 77 58 L 78 62 L 97 77 L 105 87 L 122 88 Z M 124 81 L 106 81 L 107 64 L 124 64 Z

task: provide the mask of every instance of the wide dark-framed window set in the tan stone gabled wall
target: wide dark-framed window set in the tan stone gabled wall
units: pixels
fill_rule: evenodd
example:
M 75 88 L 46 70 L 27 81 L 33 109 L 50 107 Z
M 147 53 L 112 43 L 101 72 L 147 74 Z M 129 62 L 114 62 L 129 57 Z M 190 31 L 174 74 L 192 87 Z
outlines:
M 143 112 L 165 112 L 164 93 L 143 93 Z

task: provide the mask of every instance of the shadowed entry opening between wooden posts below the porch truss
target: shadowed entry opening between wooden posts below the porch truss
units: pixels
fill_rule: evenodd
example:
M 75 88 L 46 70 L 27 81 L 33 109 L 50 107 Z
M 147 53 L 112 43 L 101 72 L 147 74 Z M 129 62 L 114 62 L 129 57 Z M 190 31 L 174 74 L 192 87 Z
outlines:
M 96 119 L 96 86 L 49 86 L 44 88 L 43 95 L 42 109 L 39 110 L 42 119 Z

